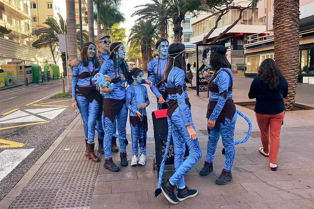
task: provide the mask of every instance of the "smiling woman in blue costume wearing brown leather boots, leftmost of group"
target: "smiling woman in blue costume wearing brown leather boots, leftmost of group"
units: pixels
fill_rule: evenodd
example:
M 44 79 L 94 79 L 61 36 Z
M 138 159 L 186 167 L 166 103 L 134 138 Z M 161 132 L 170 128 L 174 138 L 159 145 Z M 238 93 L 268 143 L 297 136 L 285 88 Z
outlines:
M 99 105 L 101 103 L 101 95 L 96 90 L 92 77 L 99 72 L 100 65 L 95 59 L 96 46 L 92 42 L 84 44 L 82 49 L 79 65 L 73 67 L 72 78 L 72 109 L 78 107 L 84 123 L 85 155 L 98 162 L 99 158 L 94 153 L 95 148 L 95 124 Z

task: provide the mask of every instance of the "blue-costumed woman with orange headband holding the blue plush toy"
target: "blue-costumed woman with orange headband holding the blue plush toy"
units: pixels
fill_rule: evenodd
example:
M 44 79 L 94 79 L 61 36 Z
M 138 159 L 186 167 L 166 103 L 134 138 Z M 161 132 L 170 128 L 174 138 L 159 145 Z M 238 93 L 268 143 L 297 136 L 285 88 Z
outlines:
M 111 157 L 111 138 L 115 131 L 114 121 L 117 119 L 117 129 L 119 136 L 126 138 L 126 123 L 128 109 L 125 106 L 125 86 L 126 83 L 131 85 L 133 83 L 132 77 L 129 76 L 129 68 L 125 62 L 125 47 L 121 42 L 116 42 L 110 46 L 111 55 L 109 60 L 105 61 L 100 72 L 105 76 L 106 81 L 115 84 L 114 89 L 109 89 L 107 86 L 99 88 L 100 91 L 109 93 L 104 97 L 104 115 L 103 125 L 105 130 L 104 137 L 104 152 L 105 163 L 104 168 L 109 171 L 119 171 L 120 168 L 116 166 Z M 151 85 L 150 81 L 143 79 L 142 83 Z M 119 139 L 120 145 L 120 159 L 121 165 L 127 166 L 126 145 L 127 139 Z

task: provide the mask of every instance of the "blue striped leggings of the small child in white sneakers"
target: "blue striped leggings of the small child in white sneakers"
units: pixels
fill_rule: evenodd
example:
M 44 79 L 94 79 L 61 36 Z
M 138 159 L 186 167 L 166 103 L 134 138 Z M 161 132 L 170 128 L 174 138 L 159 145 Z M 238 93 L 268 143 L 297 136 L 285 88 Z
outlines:
M 146 146 L 144 146 L 144 135 L 143 135 L 143 126 L 138 128 L 138 125 L 135 124 L 133 127 L 132 123 L 130 123 L 131 127 L 131 137 L 132 137 L 132 154 L 138 157 L 138 138 L 141 139 L 141 143 L 139 144 L 139 149 L 141 150 L 140 155 L 146 154 Z M 147 133 L 145 131 L 145 135 L 147 138 Z

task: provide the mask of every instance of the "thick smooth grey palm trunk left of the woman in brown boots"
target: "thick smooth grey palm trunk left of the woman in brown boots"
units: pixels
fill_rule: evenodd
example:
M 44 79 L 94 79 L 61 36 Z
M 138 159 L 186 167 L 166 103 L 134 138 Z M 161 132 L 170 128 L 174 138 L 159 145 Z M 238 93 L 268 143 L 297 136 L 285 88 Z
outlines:
M 78 56 L 76 23 L 75 23 L 75 1 L 67 0 L 66 7 L 67 7 L 67 33 L 68 33 L 68 60 L 74 60 Z M 93 31 L 93 34 L 94 34 L 94 31 Z M 72 74 L 71 69 L 69 69 L 68 71 L 69 71 L 68 95 L 71 95 L 73 74 Z

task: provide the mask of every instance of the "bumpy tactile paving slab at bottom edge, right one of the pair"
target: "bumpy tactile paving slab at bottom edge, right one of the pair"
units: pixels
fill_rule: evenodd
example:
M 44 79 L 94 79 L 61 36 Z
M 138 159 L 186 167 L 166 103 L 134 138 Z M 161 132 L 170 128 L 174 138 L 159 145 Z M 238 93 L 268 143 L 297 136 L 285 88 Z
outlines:
M 50 204 L 51 209 L 88 207 L 94 187 L 60 189 Z

